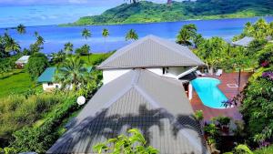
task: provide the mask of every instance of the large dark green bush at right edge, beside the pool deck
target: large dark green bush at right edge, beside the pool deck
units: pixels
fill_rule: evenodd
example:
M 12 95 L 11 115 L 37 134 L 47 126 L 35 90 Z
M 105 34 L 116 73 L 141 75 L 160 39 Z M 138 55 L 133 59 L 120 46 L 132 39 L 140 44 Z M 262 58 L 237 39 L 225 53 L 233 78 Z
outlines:
M 268 77 L 257 77 L 251 80 L 243 91 L 242 105 L 239 109 L 246 123 L 248 138 L 251 140 L 264 128 L 273 126 L 272 89 L 272 80 Z

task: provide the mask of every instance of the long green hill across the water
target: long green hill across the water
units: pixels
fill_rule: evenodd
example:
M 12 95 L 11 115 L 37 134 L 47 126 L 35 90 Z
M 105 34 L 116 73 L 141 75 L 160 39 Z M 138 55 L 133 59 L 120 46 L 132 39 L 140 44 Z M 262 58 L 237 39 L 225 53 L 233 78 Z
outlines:
M 171 5 L 141 1 L 106 10 L 102 15 L 85 16 L 65 26 L 112 25 L 171 22 L 188 19 L 238 18 L 273 15 L 272 0 L 197 0 Z

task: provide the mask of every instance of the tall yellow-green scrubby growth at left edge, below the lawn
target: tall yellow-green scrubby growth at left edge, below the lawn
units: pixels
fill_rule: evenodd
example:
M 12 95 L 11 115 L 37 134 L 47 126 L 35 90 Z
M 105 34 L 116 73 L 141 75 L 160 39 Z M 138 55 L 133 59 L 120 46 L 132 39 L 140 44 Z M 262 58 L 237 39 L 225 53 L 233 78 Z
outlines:
M 33 95 L 29 98 L 23 95 L 2 98 L 0 100 L 0 146 L 6 146 L 6 141 L 12 139 L 12 133 L 15 130 L 32 125 L 38 118 L 42 118 L 46 111 L 60 102 L 60 96 L 51 94 Z

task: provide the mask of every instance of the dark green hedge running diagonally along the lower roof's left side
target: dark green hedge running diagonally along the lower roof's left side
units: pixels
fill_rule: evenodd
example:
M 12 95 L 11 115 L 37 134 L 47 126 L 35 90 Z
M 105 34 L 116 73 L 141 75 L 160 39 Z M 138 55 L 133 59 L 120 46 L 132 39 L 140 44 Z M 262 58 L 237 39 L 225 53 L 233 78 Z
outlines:
M 16 131 L 13 136 L 15 141 L 11 147 L 18 152 L 35 151 L 45 153 L 47 149 L 59 138 L 58 128 L 65 118 L 77 110 L 76 98 L 68 97 L 64 100 L 61 108 L 52 111 L 45 123 L 38 127 L 25 127 Z

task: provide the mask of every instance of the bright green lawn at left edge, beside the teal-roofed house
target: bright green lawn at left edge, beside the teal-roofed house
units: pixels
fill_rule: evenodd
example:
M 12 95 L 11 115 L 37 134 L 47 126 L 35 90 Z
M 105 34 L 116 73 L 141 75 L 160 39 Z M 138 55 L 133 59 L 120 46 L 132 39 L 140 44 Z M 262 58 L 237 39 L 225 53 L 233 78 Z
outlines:
M 12 76 L 0 79 L 0 98 L 23 93 L 31 87 L 35 87 L 35 82 L 31 81 L 29 75 L 23 70 L 18 71 Z

